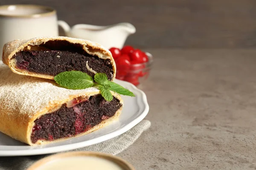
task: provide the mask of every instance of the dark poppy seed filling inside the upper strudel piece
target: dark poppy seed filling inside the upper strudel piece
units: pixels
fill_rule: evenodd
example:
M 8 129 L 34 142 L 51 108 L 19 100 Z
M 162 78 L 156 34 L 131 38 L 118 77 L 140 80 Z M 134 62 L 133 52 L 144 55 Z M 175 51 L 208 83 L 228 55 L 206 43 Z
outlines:
M 56 76 L 64 71 L 82 71 L 91 77 L 94 73 L 105 73 L 108 79 L 113 79 L 113 69 L 110 59 L 100 59 L 87 54 L 79 44 L 66 41 L 49 41 L 44 50 L 31 50 L 17 52 L 12 59 L 16 59 L 16 68 L 33 73 Z M 86 64 L 87 63 L 87 64 Z

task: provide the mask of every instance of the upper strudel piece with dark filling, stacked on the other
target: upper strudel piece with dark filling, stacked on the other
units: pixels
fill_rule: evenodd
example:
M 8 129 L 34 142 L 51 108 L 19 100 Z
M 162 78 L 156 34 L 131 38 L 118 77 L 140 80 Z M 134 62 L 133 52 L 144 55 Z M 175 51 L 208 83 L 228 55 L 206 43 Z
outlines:
M 3 62 L 14 73 L 53 79 L 64 71 L 82 71 L 91 77 L 116 75 L 116 65 L 108 49 L 89 40 L 70 37 L 37 37 L 14 40 L 3 47 Z

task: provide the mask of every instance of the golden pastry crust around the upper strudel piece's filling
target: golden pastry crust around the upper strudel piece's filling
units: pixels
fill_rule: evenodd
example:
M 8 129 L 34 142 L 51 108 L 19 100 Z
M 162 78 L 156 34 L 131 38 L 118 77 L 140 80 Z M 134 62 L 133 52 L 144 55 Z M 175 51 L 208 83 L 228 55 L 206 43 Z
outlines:
M 26 76 L 32 77 L 40 77 L 45 79 L 53 79 L 54 76 L 46 75 L 46 74 L 38 74 L 33 73 L 25 70 L 20 70 L 15 67 L 15 62 L 12 61 L 12 57 L 19 51 L 23 51 L 24 49 L 29 50 L 32 46 L 41 45 L 48 41 L 57 41 L 57 40 L 64 40 L 73 44 L 81 44 L 83 50 L 88 54 L 98 56 L 101 59 L 110 59 L 111 65 L 113 69 L 113 79 L 116 77 L 116 64 L 112 57 L 112 54 L 108 49 L 104 48 L 102 45 L 92 42 L 90 40 L 83 40 L 77 38 L 70 38 L 70 37 L 36 37 L 30 40 L 13 40 L 11 42 L 7 42 L 3 46 L 3 63 L 9 66 L 9 68 L 16 74 L 22 74 Z

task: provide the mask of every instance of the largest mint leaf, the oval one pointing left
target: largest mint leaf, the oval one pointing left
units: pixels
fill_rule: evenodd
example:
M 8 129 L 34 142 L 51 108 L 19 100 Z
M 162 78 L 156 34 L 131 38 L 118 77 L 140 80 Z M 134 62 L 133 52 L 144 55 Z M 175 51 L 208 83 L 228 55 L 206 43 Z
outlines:
M 93 86 L 92 77 L 81 71 L 65 71 L 54 77 L 56 83 L 68 89 L 84 89 Z

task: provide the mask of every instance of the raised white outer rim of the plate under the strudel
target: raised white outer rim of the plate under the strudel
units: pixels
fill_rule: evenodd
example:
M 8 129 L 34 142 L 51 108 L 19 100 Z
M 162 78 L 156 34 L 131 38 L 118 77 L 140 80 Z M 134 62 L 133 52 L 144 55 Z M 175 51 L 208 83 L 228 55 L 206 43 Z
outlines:
M 0 149 L 0 157 L 1 156 L 32 156 L 32 155 L 42 155 L 42 154 L 58 153 L 58 152 L 63 152 L 68 150 L 74 150 L 81 147 L 87 147 L 93 144 L 98 144 L 98 143 L 107 141 L 109 139 L 112 139 L 116 136 L 119 136 L 127 132 L 128 130 L 130 130 L 132 127 L 137 125 L 139 122 L 141 122 L 145 118 L 145 116 L 148 114 L 148 111 L 149 111 L 149 105 L 147 102 L 146 94 L 142 90 L 138 89 L 135 85 L 131 84 L 130 82 L 125 82 L 119 79 L 115 79 L 115 82 L 117 83 L 120 82 L 122 83 L 122 85 L 131 87 L 132 89 L 139 92 L 141 94 L 141 102 L 145 105 L 145 109 L 143 110 L 143 112 L 140 113 L 140 115 L 137 118 L 129 122 L 127 125 L 123 126 L 118 130 L 113 130 L 110 133 L 106 133 L 102 136 L 96 137 L 94 139 L 89 139 L 83 142 L 76 142 L 76 143 L 70 143 L 70 144 L 64 144 L 64 145 L 58 145 L 58 146 L 52 146 L 52 147 L 46 147 L 46 148 L 37 148 L 37 149 L 31 149 L 31 150 L 29 149 L 1 150 Z M 90 141 L 90 144 L 87 144 L 88 141 Z

